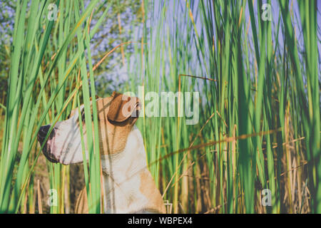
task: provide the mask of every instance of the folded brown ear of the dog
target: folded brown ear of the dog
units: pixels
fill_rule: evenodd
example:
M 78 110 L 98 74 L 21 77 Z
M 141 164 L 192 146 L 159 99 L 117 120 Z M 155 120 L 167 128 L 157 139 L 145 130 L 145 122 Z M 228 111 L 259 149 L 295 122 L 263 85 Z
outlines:
M 113 100 L 109 106 L 107 118 L 111 123 L 123 123 L 129 118 L 133 118 L 136 122 L 141 103 L 136 97 L 128 97 L 121 93 L 113 92 Z

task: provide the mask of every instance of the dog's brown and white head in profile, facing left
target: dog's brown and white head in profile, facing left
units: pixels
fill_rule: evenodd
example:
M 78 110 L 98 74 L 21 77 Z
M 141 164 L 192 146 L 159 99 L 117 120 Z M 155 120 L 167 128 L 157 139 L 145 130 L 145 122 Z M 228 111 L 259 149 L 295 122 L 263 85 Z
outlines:
M 111 97 L 96 99 L 96 107 L 101 155 L 123 151 L 128 134 L 136 123 L 138 112 L 141 108 L 138 98 L 114 92 Z M 80 111 L 83 142 L 88 158 L 84 105 L 81 105 Z M 43 152 L 47 159 L 51 162 L 60 162 L 63 165 L 82 162 L 81 125 L 79 123 L 78 108 L 71 111 L 68 120 L 56 123 L 48 140 L 44 142 L 50 127 L 51 125 L 42 126 L 38 133 L 40 144 L 45 143 Z M 93 130 L 93 122 L 91 129 Z M 93 140 L 96 139 L 94 138 Z

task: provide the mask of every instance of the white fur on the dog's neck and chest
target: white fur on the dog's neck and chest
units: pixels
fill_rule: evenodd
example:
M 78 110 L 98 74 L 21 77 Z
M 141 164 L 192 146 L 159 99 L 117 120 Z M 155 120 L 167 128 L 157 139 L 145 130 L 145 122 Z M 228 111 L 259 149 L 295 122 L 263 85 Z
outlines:
M 102 155 L 101 166 L 105 213 L 142 212 L 148 207 L 148 195 L 142 191 L 146 185 L 142 174 L 148 172 L 146 153 L 136 126 L 129 133 L 123 152 Z

